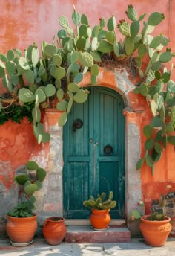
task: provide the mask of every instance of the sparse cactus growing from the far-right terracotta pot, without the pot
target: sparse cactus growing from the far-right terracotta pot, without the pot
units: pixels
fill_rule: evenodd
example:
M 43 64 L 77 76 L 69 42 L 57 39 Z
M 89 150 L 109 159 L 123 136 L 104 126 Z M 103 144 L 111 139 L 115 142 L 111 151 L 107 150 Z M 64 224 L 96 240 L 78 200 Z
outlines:
M 166 211 L 165 211 L 165 196 L 162 195 L 160 197 L 160 199 L 158 200 L 158 205 L 159 205 L 159 208 L 160 208 L 160 211 L 156 211 L 155 208 L 151 207 L 151 214 L 148 215 L 147 219 L 146 220 L 164 220 L 165 219 L 165 216 L 166 216 Z M 138 206 L 139 208 L 144 208 L 145 207 L 145 204 L 143 201 L 139 201 L 138 202 Z M 141 211 L 139 211 L 139 209 L 134 209 L 133 211 L 131 211 L 131 221 L 133 220 L 140 220 L 140 218 L 142 217 L 142 213 Z

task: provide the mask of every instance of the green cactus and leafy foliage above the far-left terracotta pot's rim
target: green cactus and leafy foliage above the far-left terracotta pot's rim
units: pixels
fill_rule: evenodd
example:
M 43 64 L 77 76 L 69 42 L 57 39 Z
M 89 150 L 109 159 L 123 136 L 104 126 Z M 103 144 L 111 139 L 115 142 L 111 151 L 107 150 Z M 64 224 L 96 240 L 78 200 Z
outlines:
M 33 196 L 35 191 L 42 188 L 42 182 L 46 176 L 46 170 L 35 161 L 27 161 L 26 173 L 15 176 L 15 182 L 19 185 L 24 185 L 24 199 L 18 202 L 15 208 L 8 211 L 7 215 L 12 217 L 32 217 L 33 210 L 35 209 L 36 198 Z

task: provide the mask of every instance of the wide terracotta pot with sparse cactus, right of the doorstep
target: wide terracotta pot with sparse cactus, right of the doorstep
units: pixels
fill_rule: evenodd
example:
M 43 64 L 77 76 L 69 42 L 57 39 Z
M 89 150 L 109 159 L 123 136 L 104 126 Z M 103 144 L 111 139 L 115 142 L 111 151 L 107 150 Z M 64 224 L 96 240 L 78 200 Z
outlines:
M 131 220 L 139 220 L 139 228 L 148 246 L 164 246 L 171 232 L 171 218 L 166 215 L 165 196 L 161 196 L 159 208 L 151 207 L 151 214 L 142 215 L 139 210 L 131 211 Z M 139 206 L 144 206 L 140 201 Z M 157 209 L 159 211 L 157 211 Z

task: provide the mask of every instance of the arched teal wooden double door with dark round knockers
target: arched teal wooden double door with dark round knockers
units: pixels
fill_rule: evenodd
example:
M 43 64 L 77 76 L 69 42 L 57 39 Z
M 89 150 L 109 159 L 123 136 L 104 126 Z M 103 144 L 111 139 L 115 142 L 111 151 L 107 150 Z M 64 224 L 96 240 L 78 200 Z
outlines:
M 125 213 L 124 102 L 117 92 L 90 87 L 83 105 L 75 103 L 64 127 L 64 217 L 88 218 L 83 201 L 113 191 L 113 218 Z

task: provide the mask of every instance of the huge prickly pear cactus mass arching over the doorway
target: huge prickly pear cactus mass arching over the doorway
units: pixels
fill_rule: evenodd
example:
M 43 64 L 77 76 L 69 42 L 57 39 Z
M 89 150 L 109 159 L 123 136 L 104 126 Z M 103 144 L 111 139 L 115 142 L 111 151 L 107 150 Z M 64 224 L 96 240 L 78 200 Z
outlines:
M 153 114 L 151 124 L 143 129 L 147 138 L 145 156 L 139 159 L 136 168 L 141 168 L 145 162 L 153 172 L 167 143 L 175 145 L 175 137 L 171 135 L 175 129 L 173 65 L 170 70 L 164 67 L 171 62 L 174 53 L 168 48 L 166 36 L 152 35 L 156 25 L 165 19 L 162 13 L 138 16 L 136 9 L 128 5 L 125 15 L 127 20 L 121 19 L 117 25 L 115 16 L 108 20 L 102 17 L 91 28 L 87 16 L 73 7 L 74 28 L 66 16 L 60 16 L 62 28 L 51 44 L 42 42 L 41 55 L 36 43 L 24 52 L 15 48 L 7 51 L 7 55 L 0 54 L 0 77 L 7 89 L 7 93 L 0 96 L 1 120 L 19 121 L 19 116 L 13 115 L 12 106 L 23 109 L 27 106 L 31 117 L 26 115 L 33 121 L 38 143 L 47 142 L 50 134 L 44 132 L 41 109 L 56 106 L 62 111 L 59 126 L 63 126 L 73 102 L 87 100 L 89 92 L 80 86 L 87 72 L 91 85 L 95 86 L 102 63 L 110 60 L 114 67 L 129 63 L 131 75 L 140 77 L 134 92 L 145 97 Z M 148 58 L 146 66 L 143 65 L 145 57 Z M 20 115 L 23 118 L 24 115 Z

